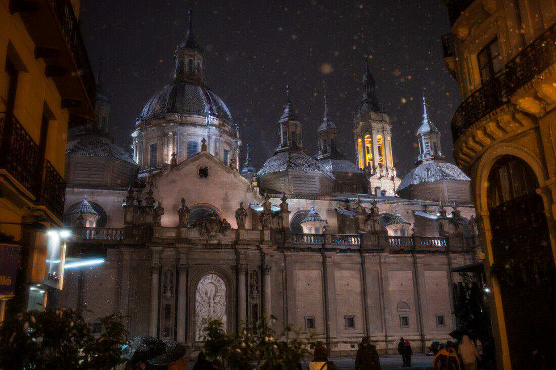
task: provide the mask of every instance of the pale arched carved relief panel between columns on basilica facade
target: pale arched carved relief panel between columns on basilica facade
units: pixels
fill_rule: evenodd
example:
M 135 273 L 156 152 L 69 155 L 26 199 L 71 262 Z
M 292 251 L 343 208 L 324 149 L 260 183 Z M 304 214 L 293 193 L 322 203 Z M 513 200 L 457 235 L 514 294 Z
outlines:
M 226 330 L 226 284 L 215 274 L 199 280 L 195 293 L 195 340 L 203 338 L 203 319 L 220 319 Z

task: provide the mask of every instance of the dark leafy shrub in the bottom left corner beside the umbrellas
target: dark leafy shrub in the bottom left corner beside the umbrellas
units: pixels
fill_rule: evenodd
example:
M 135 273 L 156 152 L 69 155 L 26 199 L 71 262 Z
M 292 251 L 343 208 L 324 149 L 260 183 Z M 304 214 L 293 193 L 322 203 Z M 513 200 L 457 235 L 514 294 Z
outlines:
M 51 309 L 18 313 L 0 324 L 0 369 L 110 369 L 121 363 L 127 332 L 122 316 L 100 319 L 92 333 L 81 312 Z

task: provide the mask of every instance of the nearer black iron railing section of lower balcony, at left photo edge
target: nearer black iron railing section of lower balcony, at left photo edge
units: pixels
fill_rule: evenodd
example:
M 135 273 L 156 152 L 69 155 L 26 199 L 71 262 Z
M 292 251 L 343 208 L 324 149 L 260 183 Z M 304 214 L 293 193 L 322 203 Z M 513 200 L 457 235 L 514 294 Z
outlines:
M 35 194 L 39 173 L 39 150 L 31 135 L 13 114 L 0 112 L 0 169 L 5 169 Z

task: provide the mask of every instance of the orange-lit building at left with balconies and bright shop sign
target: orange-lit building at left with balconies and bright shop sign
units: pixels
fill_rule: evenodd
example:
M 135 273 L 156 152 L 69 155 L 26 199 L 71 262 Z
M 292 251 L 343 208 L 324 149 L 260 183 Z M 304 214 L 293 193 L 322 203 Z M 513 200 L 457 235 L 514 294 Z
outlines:
M 79 5 L 0 2 L 2 314 L 6 302 L 13 311 L 56 305 L 63 283 L 66 136 L 95 117 Z

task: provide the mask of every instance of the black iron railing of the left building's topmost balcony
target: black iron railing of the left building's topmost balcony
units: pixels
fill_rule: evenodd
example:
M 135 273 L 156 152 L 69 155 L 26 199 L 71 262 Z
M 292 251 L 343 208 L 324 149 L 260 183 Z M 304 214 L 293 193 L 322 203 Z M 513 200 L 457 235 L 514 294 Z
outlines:
M 91 101 L 91 105 L 94 107 L 96 98 L 95 76 L 93 75 L 91 63 L 87 56 L 85 42 L 83 42 L 83 37 L 81 36 L 79 22 L 75 16 L 75 12 L 73 12 L 73 6 L 69 0 L 50 1 L 58 16 L 58 21 L 62 26 L 62 31 L 68 43 L 69 50 L 72 52 L 77 69 L 80 71 L 80 77 L 87 91 L 89 100 Z

